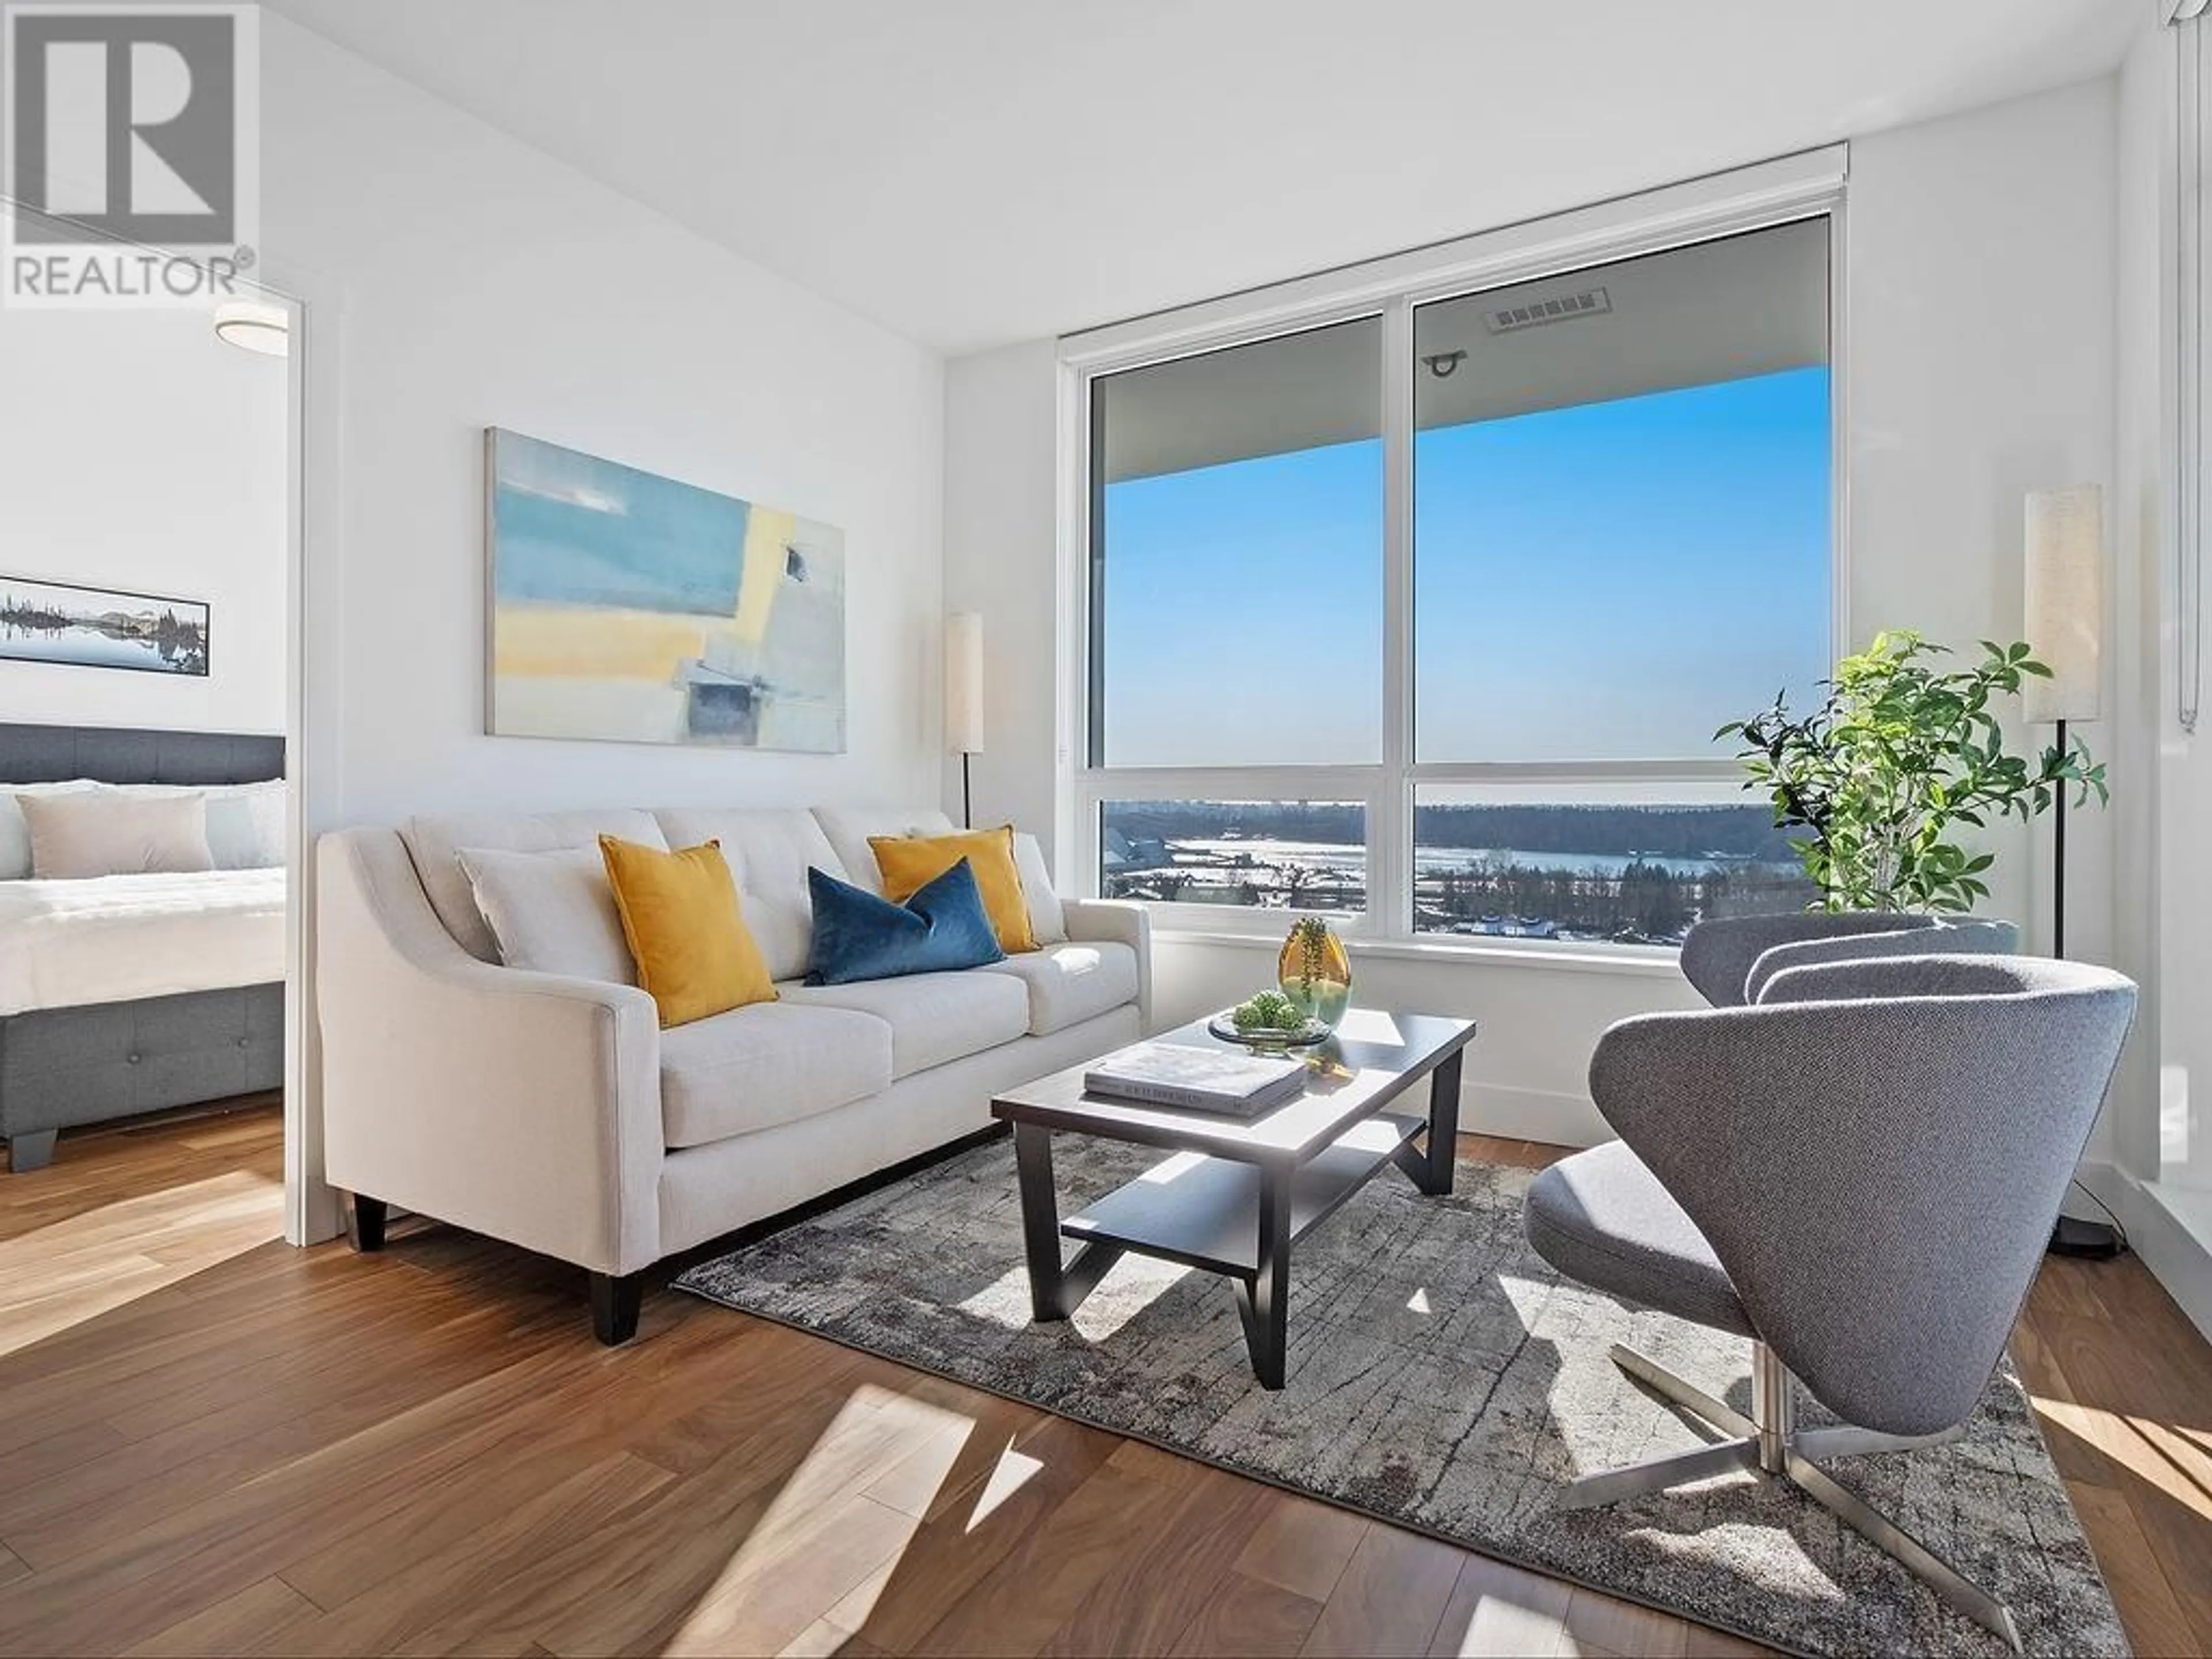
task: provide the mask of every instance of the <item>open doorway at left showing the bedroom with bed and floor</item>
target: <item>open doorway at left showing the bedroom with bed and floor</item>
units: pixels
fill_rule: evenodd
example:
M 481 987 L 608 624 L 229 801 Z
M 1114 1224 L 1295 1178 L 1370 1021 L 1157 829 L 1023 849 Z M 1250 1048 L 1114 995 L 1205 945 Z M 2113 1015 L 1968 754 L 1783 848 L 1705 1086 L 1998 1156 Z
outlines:
M 288 1230 L 301 319 L 0 310 L 0 1354 Z

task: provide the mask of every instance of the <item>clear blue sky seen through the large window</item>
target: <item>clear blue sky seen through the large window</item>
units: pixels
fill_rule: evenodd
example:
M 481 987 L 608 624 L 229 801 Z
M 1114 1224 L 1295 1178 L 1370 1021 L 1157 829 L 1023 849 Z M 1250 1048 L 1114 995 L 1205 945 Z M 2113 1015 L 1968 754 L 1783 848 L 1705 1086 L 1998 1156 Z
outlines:
M 1827 369 L 1422 431 L 1422 761 L 1721 754 L 1829 670 Z M 1106 489 L 1106 761 L 1383 757 L 1383 445 Z

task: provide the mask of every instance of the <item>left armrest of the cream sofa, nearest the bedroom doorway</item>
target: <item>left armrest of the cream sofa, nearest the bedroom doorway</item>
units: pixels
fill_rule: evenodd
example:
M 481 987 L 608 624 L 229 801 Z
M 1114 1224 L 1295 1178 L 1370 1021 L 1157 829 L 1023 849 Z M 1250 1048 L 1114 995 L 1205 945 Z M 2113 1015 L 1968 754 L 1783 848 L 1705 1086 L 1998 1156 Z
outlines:
M 659 1020 L 637 987 L 478 962 L 405 843 L 316 858 L 332 1186 L 604 1274 L 659 1256 Z

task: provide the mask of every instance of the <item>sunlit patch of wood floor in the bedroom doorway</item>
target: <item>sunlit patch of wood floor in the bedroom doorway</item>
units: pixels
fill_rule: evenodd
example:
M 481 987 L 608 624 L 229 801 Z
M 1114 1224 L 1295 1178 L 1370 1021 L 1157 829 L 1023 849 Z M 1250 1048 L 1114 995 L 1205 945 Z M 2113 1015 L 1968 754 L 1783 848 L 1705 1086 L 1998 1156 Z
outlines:
M 232 1170 L 0 1239 L 0 1354 L 42 1343 L 281 1237 L 283 1183 Z

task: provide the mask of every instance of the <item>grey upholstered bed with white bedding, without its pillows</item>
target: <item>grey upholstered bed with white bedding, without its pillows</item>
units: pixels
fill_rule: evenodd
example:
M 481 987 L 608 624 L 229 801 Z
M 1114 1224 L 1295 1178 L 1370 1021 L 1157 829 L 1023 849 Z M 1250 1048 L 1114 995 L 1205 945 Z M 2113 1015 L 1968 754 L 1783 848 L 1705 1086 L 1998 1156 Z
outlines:
M 0 792 L 281 776 L 281 737 L 0 723 Z M 11 1170 L 51 1161 L 64 1128 L 279 1088 L 283 907 L 283 869 L 0 878 Z

